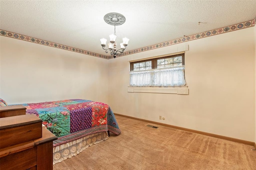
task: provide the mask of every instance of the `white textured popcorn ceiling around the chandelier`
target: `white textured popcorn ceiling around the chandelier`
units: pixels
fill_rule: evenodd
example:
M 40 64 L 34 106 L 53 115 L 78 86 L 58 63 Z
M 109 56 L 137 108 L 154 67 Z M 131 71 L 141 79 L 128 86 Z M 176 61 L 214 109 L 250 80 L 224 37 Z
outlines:
M 129 38 L 130 51 L 252 20 L 256 0 L 0 0 L 0 29 L 106 55 L 110 12 L 126 17 L 117 44 Z

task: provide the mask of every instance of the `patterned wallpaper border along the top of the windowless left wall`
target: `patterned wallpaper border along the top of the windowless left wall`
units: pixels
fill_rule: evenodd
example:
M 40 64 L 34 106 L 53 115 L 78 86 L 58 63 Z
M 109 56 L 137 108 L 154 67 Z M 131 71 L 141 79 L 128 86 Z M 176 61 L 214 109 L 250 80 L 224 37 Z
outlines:
M 45 41 L 45 40 L 42 40 L 42 39 L 37 39 L 37 38 L 30 37 L 30 36 L 27 36 L 27 35 L 22 35 L 22 34 L 10 32 L 10 31 L 5 31 L 5 30 L 2 30 L 2 29 L 0 29 L 0 35 L 10 37 L 10 38 L 20 39 L 20 40 L 28 41 L 28 42 L 32 42 L 32 43 L 37 43 L 37 44 L 41 44 L 41 45 L 46 45 L 46 46 L 49 46 L 49 47 L 55 47 L 55 48 L 59 48 L 59 49 L 73 51 L 73 52 L 76 52 L 76 53 L 91 55 L 91 56 L 94 56 L 94 57 L 100 57 L 100 58 L 103 58 L 103 59 L 109 59 L 110 58 L 110 56 L 101 55 L 101 54 L 93 53 L 93 52 L 90 52 L 90 51 L 77 49 L 77 48 L 74 48 L 74 47 L 70 47 L 70 46 L 66 46 L 66 45 L 62 45 L 62 44 L 58 44 L 58 43 L 54 43 L 54 42 L 50 42 L 50 41 Z

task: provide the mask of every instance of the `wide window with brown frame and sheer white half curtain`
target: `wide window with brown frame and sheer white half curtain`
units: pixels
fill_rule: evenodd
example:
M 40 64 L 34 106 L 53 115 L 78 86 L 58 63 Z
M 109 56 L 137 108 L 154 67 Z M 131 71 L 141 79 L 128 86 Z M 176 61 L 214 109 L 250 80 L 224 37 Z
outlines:
M 184 54 L 130 63 L 130 86 L 184 86 Z

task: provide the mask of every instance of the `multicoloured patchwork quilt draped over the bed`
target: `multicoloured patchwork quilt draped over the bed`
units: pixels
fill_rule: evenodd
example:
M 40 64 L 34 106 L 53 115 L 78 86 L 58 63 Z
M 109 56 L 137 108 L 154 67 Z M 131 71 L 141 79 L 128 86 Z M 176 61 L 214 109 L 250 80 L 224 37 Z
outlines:
M 72 99 L 22 105 L 26 113 L 38 116 L 58 137 L 54 146 L 103 131 L 121 133 L 113 111 L 101 102 Z

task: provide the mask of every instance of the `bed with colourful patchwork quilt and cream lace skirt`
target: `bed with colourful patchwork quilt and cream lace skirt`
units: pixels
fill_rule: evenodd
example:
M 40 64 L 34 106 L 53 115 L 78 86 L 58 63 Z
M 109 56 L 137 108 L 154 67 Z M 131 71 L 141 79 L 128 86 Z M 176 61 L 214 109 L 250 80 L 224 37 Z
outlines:
M 72 99 L 22 105 L 58 137 L 53 143 L 53 164 L 108 139 L 108 132 L 121 133 L 114 113 L 101 102 Z

